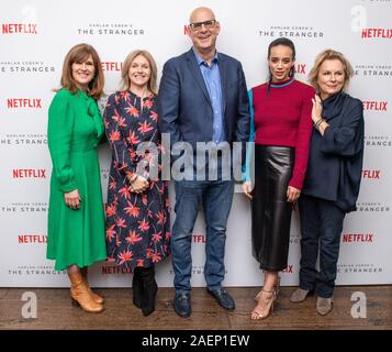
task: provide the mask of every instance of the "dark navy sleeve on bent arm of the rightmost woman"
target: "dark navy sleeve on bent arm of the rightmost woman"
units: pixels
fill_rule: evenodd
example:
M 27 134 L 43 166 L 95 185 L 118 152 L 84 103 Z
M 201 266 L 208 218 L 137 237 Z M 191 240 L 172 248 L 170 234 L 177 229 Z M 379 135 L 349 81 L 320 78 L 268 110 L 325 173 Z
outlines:
M 356 135 L 363 120 L 363 105 L 360 100 L 341 117 L 341 125 L 329 124 L 324 132 L 321 151 L 324 154 L 354 156 L 357 154 Z

